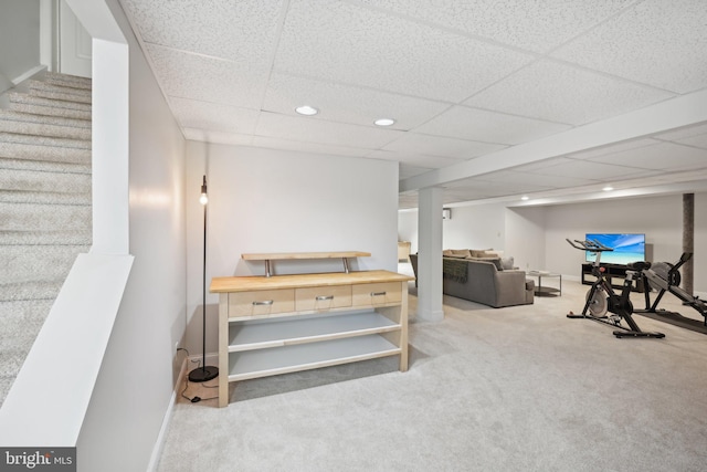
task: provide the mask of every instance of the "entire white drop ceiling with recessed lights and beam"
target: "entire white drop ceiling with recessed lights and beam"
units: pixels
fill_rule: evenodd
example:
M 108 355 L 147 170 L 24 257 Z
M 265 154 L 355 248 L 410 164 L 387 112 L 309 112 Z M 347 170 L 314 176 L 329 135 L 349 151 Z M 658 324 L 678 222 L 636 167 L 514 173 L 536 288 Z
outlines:
M 120 3 L 187 139 L 397 161 L 400 208 L 707 191 L 704 0 Z

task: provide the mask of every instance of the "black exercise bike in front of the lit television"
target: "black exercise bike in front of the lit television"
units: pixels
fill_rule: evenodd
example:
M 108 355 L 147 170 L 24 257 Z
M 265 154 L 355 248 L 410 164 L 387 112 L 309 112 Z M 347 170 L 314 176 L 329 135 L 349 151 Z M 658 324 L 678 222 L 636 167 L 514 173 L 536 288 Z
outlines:
M 663 333 L 657 332 L 644 332 L 641 331 L 636 322 L 633 319 L 633 304 L 631 303 L 631 287 L 633 285 L 634 277 L 641 273 L 641 271 L 648 269 L 651 263 L 647 261 L 639 261 L 629 264 L 626 276 L 623 281 L 623 287 L 621 294 L 616 294 L 611 286 L 611 283 L 604 274 L 604 268 L 601 266 L 601 253 L 606 251 L 613 251 L 612 248 L 599 243 L 598 241 L 579 241 L 567 240 L 574 249 L 582 251 L 590 251 L 597 254 L 594 262 L 592 263 L 592 275 L 597 279 L 592 283 L 591 289 L 587 292 L 587 303 L 582 310 L 581 315 L 576 315 L 570 312 L 568 318 L 588 318 L 594 322 L 603 323 L 615 328 L 614 336 L 621 337 L 665 337 Z M 606 315 L 606 313 L 611 313 Z M 629 327 L 625 327 L 621 322 L 625 322 Z

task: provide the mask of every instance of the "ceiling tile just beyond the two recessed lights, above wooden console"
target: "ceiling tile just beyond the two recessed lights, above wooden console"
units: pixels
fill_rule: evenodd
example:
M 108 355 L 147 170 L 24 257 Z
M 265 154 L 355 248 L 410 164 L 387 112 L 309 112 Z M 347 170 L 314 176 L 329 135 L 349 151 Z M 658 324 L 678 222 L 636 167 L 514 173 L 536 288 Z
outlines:
M 256 134 L 295 141 L 312 141 L 344 147 L 378 149 L 398 138 L 402 132 L 376 126 L 331 123 L 304 116 L 261 113 Z

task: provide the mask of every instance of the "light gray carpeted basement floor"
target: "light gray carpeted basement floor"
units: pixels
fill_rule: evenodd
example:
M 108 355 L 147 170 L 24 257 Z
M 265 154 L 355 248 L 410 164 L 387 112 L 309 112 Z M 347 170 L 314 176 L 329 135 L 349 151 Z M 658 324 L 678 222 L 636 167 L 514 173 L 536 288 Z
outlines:
M 432 324 L 414 321 L 411 284 L 408 373 L 377 359 L 240 382 L 223 409 L 180 399 L 158 470 L 705 470 L 707 338 L 568 319 L 587 289 L 502 310 L 445 296 Z

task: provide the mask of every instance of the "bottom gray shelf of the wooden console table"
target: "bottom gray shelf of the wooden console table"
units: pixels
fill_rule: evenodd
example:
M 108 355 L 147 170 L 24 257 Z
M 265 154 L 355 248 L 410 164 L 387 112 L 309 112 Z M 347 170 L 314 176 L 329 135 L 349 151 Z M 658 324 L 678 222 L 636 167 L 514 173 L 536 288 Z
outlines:
M 380 335 L 229 353 L 229 381 L 316 369 L 401 353 L 401 347 Z

